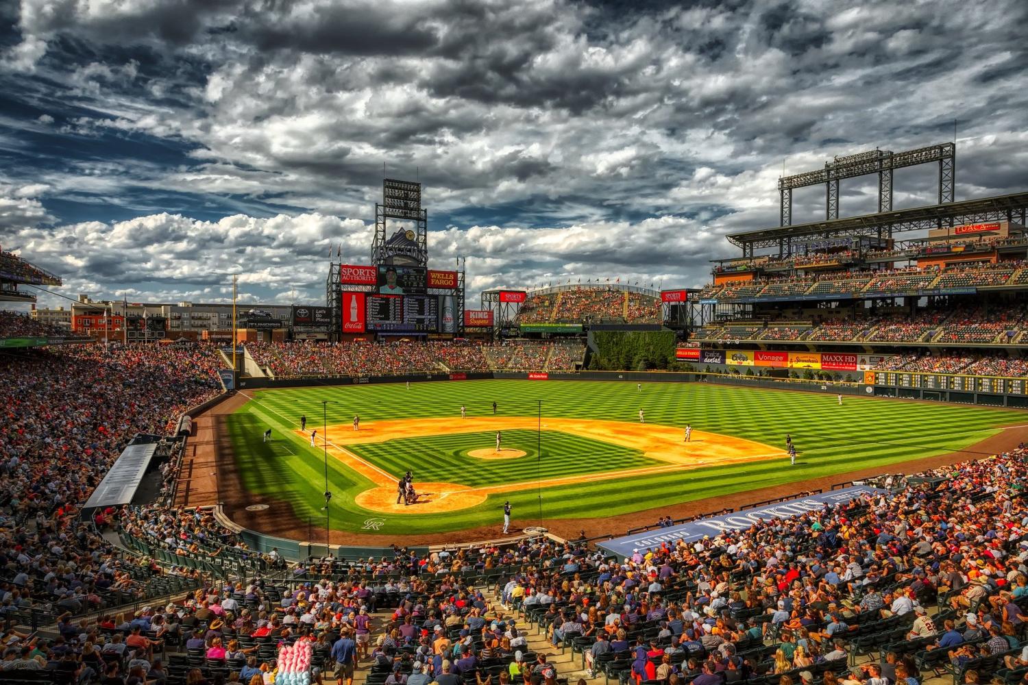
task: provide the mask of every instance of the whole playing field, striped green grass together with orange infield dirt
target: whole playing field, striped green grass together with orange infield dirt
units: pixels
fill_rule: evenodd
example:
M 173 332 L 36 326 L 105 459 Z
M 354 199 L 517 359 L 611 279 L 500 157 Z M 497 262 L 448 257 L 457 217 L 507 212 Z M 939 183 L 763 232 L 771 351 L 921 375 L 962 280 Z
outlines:
M 873 397 L 840 406 L 830 394 L 696 383 L 644 383 L 640 392 L 634 382 L 486 380 L 245 394 L 225 420 L 246 490 L 234 498 L 324 521 L 327 457 L 332 529 L 356 539 L 372 516 L 383 519 L 374 532 L 397 535 L 487 526 L 505 500 L 523 525 L 629 513 L 946 454 L 1025 422 L 1003 409 Z M 267 426 L 276 439 L 264 443 Z M 498 430 L 504 450 L 523 455 L 483 458 L 502 454 Z M 417 499 L 397 503 L 407 470 Z M 221 497 L 231 510 L 233 493 Z M 278 520 L 264 520 L 262 532 L 274 533 Z

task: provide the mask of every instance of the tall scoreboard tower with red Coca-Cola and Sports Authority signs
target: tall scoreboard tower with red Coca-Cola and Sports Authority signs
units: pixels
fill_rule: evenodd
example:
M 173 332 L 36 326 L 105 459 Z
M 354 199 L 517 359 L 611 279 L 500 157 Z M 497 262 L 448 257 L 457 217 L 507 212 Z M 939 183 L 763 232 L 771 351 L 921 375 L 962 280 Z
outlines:
M 382 180 L 371 264 L 330 263 L 329 339 L 451 339 L 464 335 L 465 271 L 428 268 L 428 212 L 421 184 Z

